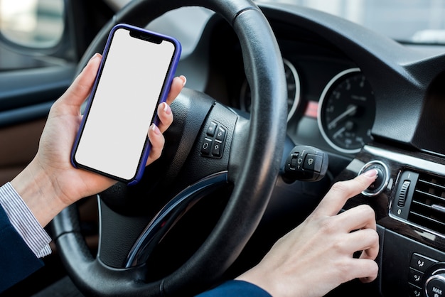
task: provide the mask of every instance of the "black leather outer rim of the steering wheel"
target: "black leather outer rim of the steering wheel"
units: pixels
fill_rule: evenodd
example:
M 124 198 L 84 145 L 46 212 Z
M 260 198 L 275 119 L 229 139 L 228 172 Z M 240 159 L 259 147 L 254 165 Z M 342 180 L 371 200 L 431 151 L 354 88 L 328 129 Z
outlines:
M 200 249 L 177 271 L 148 284 L 141 281 L 141 269 L 111 269 L 92 257 L 79 232 L 75 206 L 63 210 L 53 220 L 55 242 L 68 274 L 86 294 L 185 296 L 211 286 L 242 251 L 274 188 L 286 131 L 286 80 L 272 29 L 252 1 L 132 1 L 102 28 L 80 61 L 79 70 L 93 53 L 102 50 L 115 24 L 145 26 L 157 16 L 182 6 L 203 6 L 219 13 L 237 33 L 242 46 L 253 96 L 249 138 L 242 154 L 244 160 L 240 161 L 242 166 L 237 168 L 237 182 L 220 221 Z

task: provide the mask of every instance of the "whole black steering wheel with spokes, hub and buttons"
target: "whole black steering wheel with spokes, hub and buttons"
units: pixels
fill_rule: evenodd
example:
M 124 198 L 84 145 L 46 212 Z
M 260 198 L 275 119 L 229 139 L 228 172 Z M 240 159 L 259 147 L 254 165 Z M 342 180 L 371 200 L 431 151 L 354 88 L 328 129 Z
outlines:
M 102 52 L 115 24 L 144 27 L 183 6 L 210 9 L 235 31 L 252 90 L 250 118 L 185 88 L 172 104 L 175 119 L 165 133 L 163 156 L 146 168 L 138 185 L 117 183 L 97 195 L 100 244 L 95 257 L 80 233 L 77 206 L 55 217 L 53 237 L 60 257 L 86 295 L 186 296 L 218 284 L 259 224 L 274 188 L 286 131 L 286 79 L 274 33 L 252 1 L 132 1 L 97 34 L 78 72 Z M 210 126 L 222 133 L 211 136 Z M 206 151 L 216 137 L 222 137 L 219 153 Z M 199 200 L 227 185 L 227 203 L 210 234 L 183 264 L 153 277 L 159 266 L 151 266 L 150 259 L 168 231 Z

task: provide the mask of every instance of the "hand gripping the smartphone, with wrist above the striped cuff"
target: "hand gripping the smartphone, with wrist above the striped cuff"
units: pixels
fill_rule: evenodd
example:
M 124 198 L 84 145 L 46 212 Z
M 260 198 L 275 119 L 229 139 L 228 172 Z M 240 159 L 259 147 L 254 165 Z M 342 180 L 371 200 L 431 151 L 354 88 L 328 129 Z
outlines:
M 73 84 L 54 104 L 43 129 L 40 146 L 33 161 L 11 181 L 26 205 L 44 227 L 63 208 L 90 195 L 100 193 L 116 180 L 74 168 L 71 148 L 82 121 L 80 107 L 92 90 L 102 56 L 94 55 Z M 166 98 L 169 105 L 185 85 L 185 77 L 175 77 Z M 147 164 L 159 157 L 165 131 L 173 121 L 170 107 L 160 104 L 159 128 L 149 131 L 152 144 Z M 113 162 L 113 158 L 109 160 Z

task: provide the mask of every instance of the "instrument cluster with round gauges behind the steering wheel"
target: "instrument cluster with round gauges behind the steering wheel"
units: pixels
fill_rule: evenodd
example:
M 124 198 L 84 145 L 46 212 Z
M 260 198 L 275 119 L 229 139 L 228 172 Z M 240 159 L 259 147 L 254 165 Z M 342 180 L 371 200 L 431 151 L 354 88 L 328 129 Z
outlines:
M 316 75 L 302 63 L 299 68 L 284 59 L 287 80 L 288 134 L 296 142 L 308 144 L 308 137 L 300 139 L 299 131 L 314 128 L 313 143 L 324 144 L 337 153 L 353 155 L 372 140 L 375 119 L 375 97 L 372 87 L 359 68 L 343 67 L 329 74 Z M 301 69 L 301 72 L 299 71 Z M 311 91 L 305 90 L 311 89 Z M 310 93 L 310 94 L 309 94 Z M 251 94 L 247 81 L 240 91 L 240 108 L 250 112 Z M 313 121 L 304 121 L 303 118 Z M 316 127 L 315 127 L 315 126 Z M 316 139 L 318 138 L 318 139 Z

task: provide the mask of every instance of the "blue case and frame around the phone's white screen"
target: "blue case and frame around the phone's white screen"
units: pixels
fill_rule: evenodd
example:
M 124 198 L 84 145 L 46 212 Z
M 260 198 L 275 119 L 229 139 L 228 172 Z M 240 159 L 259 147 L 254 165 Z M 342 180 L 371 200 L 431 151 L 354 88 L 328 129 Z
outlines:
M 175 38 L 173 38 L 171 36 L 165 36 L 165 35 L 160 34 L 160 33 L 154 33 L 152 31 L 148 31 L 148 30 L 146 30 L 144 28 L 139 28 L 139 27 L 131 26 L 131 25 L 124 24 L 124 23 L 121 23 L 121 24 L 118 24 L 118 25 L 114 26 L 112 28 L 112 30 L 110 31 L 110 33 L 109 33 L 109 36 L 108 36 L 108 39 L 107 39 L 107 44 L 105 45 L 105 48 L 104 48 L 102 63 L 100 64 L 100 68 L 97 71 L 97 76 L 96 76 L 96 79 L 95 79 L 95 83 L 94 83 L 94 85 L 92 87 L 91 95 L 87 99 L 87 105 L 85 107 L 85 112 L 84 112 L 85 115 L 82 118 L 82 122 L 80 124 L 80 129 L 77 131 L 77 136 L 75 138 L 75 143 L 74 143 L 73 149 L 71 151 L 71 163 L 76 168 L 82 168 L 82 169 L 86 169 L 86 170 L 93 171 L 93 172 L 96 172 L 96 173 L 100 173 L 102 175 L 108 176 L 109 178 L 113 178 L 114 180 L 118 180 L 118 181 L 122 181 L 124 183 L 128 183 L 128 185 L 134 185 L 134 184 L 138 183 L 141 180 L 142 175 L 144 174 L 144 168 L 145 168 L 145 164 L 146 164 L 147 158 L 149 157 L 149 153 L 150 153 L 150 150 L 151 150 L 151 144 L 150 144 L 148 136 L 146 137 L 144 148 L 143 148 L 141 156 L 139 158 L 139 165 L 136 168 L 136 174 L 134 175 L 133 178 L 126 179 L 126 178 L 120 178 L 117 175 L 110 175 L 110 174 L 108 174 L 106 172 L 102 172 L 102 171 L 99 171 L 99 170 L 97 170 L 95 168 L 91 168 L 90 166 L 85 166 L 84 164 L 81 164 L 81 163 L 77 162 L 76 158 L 75 158 L 77 147 L 78 147 L 80 139 L 82 137 L 82 132 L 85 129 L 85 122 L 87 121 L 87 114 L 90 112 L 91 104 L 92 104 L 92 101 L 93 101 L 93 98 L 94 98 L 94 95 L 95 95 L 95 90 L 97 89 L 97 84 L 98 84 L 98 82 L 100 80 L 100 75 L 102 73 L 102 69 L 104 67 L 104 64 L 106 63 L 105 61 L 106 61 L 106 57 L 107 57 L 108 52 L 109 52 L 109 47 L 112 44 L 112 38 L 113 38 L 114 32 L 117 31 L 119 28 L 125 28 L 125 29 L 131 31 L 132 33 L 136 33 L 136 34 L 137 33 L 142 33 L 143 36 L 153 36 L 154 38 L 161 38 L 162 40 L 170 41 L 171 43 L 173 43 L 175 45 L 175 50 L 174 50 L 174 53 L 173 53 L 173 57 L 171 58 L 171 64 L 170 64 L 170 67 L 168 68 L 165 80 L 163 82 L 163 87 L 161 89 L 161 95 L 159 97 L 159 102 L 157 103 L 157 105 L 159 105 L 161 102 L 165 102 L 166 101 L 166 97 L 167 97 L 168 92 L 170 90 L 171 82 L 173 80 L 173 76 L 174 76 L 175 71 L 176 71 L 176 66 L 177 66 L 177 64 L 179 62 L 179 58 L 181 56 L 181 43 L 179 43 Z M 144 39 L 144 38 L 142 38 L 142 39 Z M 157 107 L 157 105 L 156 105 L 156 107 Z M 154 124 L 158 125 L 159 124 L 159 118 L 157 116 L 156 110 L 157 110 L 157 108 L 155 109 L 155 116 L 154 116 L 154 121 L 153 122 L 154 122 Z

